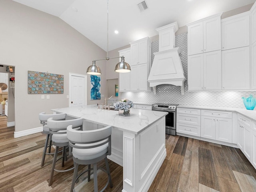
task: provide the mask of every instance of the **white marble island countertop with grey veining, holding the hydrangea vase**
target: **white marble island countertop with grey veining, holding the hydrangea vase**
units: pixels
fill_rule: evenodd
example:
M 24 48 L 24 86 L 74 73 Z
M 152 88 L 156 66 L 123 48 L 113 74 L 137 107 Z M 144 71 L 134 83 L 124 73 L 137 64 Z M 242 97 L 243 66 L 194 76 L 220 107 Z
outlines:
M 59 108 L 52 109 L 52 111 L 66 113 L 68 116 L 74 118 L 84 118 L 89 122 L 104 126 L 111 125 L 118 130 L 132 134 L 139 134 L 151 124 L 168 114 L 168 112 L 132 108 L 130 116 L 119 116 L 118 111 L 98 109 L 97 105 Z

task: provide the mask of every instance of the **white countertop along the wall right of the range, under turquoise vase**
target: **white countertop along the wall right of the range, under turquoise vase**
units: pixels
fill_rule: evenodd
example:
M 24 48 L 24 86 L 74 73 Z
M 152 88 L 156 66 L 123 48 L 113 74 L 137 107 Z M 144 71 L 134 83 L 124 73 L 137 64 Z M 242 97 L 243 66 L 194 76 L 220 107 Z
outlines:
M 192 108 L 192 109 L 207 109 L 207 110 L 220 110 L 231 111 L 242 114 L 251 120 L 256 121 L 256 110 L 247 110 L 242 108 L 229 108 L 229 107 L 211 107 L 211 106 L 194 106 L 194 105 L 178 105 L 177 108 Z

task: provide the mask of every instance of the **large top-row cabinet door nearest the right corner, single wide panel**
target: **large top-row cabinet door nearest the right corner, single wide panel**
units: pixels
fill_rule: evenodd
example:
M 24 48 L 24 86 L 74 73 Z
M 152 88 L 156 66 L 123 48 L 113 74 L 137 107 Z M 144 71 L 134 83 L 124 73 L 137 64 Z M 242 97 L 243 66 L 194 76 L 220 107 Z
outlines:
M 221 20 L 222 50 L 250 45 L 249 12 Z

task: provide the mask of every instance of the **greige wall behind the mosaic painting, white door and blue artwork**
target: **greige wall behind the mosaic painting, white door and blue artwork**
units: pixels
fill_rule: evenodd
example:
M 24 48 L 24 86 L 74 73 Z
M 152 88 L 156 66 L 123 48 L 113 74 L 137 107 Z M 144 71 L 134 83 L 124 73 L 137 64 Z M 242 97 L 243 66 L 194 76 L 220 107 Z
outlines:
M 60 18 L 11 0 L 0 1 L 0 64 L 15 66 L 15 132 L 40 127 L 39 112 L 68 107 L 68 73 L 86 74 L 94 58 L 106 52 L 74 30 Z M 106 61 L 102 69 L 101 94 L 106 90 Z M 64 75 L 64 94 L 28 94 L 28 70 Z M 90 101 L 90 76 L 87 76 L 87 104 Z

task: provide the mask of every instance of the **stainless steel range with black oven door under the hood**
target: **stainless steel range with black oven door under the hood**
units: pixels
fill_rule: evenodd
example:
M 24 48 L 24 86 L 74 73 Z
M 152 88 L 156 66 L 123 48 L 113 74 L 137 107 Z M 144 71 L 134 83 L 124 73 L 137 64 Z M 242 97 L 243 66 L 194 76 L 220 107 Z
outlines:
M 153 111 L 168 112 L 165 116 L 165 132 L 169 135 L 176 135 L 176 106 L 179 104 L 155 103 L 152 104 Z

